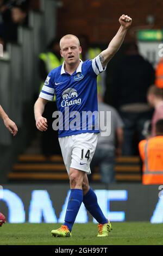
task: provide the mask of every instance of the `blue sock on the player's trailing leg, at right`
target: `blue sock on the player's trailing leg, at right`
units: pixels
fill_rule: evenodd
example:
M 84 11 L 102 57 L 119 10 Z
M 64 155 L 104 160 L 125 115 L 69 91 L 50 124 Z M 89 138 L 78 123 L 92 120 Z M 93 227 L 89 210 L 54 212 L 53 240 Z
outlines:
M 83 203 L 85 208 L 90 212 L 93 218 L 100 224 L 108 223 L 108 220 L 103 215 L 101 208 L 98 205 L 97 197 L 95 192 L 90 188 L 90 190 L 83 196 Z

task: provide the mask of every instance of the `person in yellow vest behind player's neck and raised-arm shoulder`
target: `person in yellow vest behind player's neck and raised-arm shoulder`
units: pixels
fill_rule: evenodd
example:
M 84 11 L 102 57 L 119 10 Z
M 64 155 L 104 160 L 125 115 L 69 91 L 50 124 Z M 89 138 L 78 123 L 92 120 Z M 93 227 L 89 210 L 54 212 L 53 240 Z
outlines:
M 79 35 L 80 45 L 82 45 L 82 53 L 80 58 L 85 62 L 87 59 L 93 59 L 98 56 L 102 50 L 99 47 L 91 47 L 89 37 L 87 35 Z M 106 91 L 105 72 L 97 76 L 97 90 L 104 97 Z

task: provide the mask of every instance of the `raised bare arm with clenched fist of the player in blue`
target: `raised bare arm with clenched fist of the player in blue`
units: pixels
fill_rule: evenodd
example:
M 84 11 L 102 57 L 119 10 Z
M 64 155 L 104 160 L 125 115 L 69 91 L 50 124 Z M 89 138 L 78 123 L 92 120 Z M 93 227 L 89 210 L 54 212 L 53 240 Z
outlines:
M 128 15 L 123 14 L 120 17 L 119 22 L 121 24 L 121 27 L 118 30 L 117 34 L 111 40 L 108 48 L 106 48 L 106 50 L 102 51 L 101 54 L 99 54 L 99 59 L 101 60 L 103 68 L 121 47 L 124 37 L 131 26 L 132 19 Z

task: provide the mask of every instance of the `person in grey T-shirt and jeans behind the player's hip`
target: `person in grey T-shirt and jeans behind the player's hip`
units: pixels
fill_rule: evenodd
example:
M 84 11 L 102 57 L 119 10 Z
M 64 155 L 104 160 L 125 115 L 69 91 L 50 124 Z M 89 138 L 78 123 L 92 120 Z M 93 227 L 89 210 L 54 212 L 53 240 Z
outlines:
M 105 125 L 111 126 L 111 133 L 108 136 L 102 136 L 100 133 L 98 137 L 95 155 L 91 161 L 91 172 L 95 172 L 95 167 L 99 167 L 101 173 L 101 181 L 104 184 L 115 182 L 115 156 L 121 156 L 121 148 L 123 142 L 123 122 L 116 111 L 116 109 L 103 102 L 103 98 L 98 94 L 98 111 L 103 119 L 99 119 L 99 128 L 104 131 Z M 105 114 L 103 115 L 102 112 Z M 111 120 L 109 124 L 106 123 L 106 112 L 111 112 Z

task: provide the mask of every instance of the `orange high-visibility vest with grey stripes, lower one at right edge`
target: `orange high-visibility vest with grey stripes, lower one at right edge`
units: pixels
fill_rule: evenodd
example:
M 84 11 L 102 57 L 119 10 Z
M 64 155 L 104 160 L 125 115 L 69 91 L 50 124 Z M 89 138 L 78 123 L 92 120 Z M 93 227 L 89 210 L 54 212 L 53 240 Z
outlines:
M 156 136 L 139 143 L 143 161 L 142 183 L 163 184 L 163 136 Z

